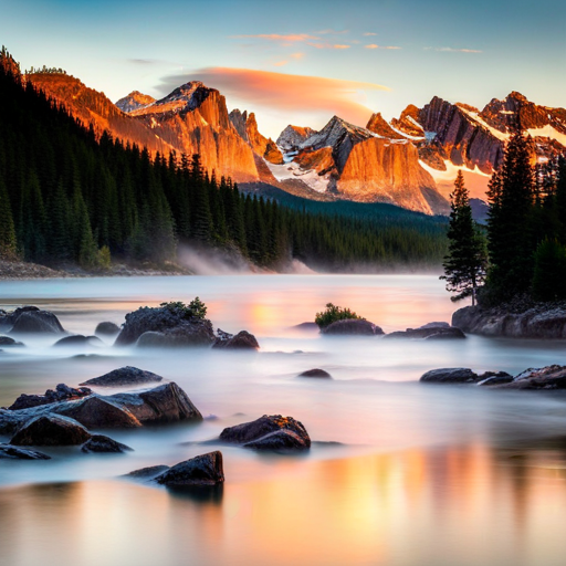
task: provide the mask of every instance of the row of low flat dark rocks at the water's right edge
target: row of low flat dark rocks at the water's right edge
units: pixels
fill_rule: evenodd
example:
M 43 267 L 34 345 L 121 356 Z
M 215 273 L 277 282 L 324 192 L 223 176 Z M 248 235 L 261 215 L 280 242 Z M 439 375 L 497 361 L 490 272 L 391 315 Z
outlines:
M 428 384 L 469 384 L 492 389 L 555 390 L 566 389 L 566 366 L 525 369 L 516 376 L 506 371 L 476 374 L 470 368 L 442 368 L 427 371 L 420 378 Z

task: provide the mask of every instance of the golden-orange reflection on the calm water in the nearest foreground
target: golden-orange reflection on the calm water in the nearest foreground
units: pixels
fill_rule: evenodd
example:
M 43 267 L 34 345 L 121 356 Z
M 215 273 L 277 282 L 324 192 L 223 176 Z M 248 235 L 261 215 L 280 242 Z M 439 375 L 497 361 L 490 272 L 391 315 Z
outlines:
M 124 481 L 4 489 L 1 563 L 562 565 L 564 451 L 509 450 L 291 462 L 205 496 Z

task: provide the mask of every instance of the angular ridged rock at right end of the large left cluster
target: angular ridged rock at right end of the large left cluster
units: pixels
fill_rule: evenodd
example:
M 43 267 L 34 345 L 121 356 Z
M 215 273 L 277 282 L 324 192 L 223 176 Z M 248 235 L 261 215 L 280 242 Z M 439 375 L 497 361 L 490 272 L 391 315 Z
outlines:
M 128 409 L 144 424 L 202 420 L 202 415 L 188 395 L 175 382 L 147 391 L 116 394 L 111 398 Z

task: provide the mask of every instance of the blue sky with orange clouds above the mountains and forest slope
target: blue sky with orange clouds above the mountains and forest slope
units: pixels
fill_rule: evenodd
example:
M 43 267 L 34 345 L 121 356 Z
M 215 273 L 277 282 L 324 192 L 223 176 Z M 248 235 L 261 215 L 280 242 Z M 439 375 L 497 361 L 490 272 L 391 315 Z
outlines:
M 0 43 L 113 102 L 203 81 L 273 138 L 433 96 L 566 107 L 564 0 L 0 0 Z

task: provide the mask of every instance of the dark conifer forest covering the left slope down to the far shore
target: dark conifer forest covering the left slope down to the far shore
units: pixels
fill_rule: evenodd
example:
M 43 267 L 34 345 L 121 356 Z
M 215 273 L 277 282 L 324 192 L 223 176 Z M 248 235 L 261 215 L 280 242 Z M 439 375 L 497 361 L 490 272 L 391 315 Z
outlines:
M 113 260 L 163 265 L 195 242 L 265 268 L 296 258 L 352 270 L 439 265 L 446 252 L 444 219 L 388 206 L 284 206 L 241 193 L 205 171 L 198 155 L 153 158 L 107 134 L 97 139 L 8 65 L 0 132 L 3 256 L 91 270 Z

